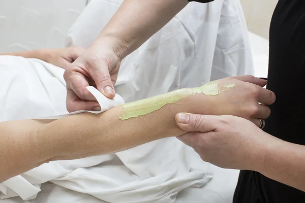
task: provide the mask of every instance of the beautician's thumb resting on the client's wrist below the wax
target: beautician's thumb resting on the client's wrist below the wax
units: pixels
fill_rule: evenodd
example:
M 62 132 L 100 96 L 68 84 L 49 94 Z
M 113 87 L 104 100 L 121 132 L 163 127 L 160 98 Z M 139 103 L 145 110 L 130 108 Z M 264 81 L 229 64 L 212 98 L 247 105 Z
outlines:
M 217 127 L 217 116 L 178 113 L 175 119 L 177 125 L 188 132 L 209 132 Z

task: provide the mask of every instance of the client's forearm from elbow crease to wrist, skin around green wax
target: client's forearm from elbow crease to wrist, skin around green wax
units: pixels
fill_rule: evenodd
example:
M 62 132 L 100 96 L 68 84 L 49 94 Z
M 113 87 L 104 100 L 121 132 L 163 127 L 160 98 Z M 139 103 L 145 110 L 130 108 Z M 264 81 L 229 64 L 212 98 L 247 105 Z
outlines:
M 179 92 L 181 90 L 176 90 Z M 165 94 L 165 95 L 170 95 Z M 194 94 L 179 101 L 166 104 L 159 110 L 153 108 L 145 115 L 132 109 L 131 116 L 123 117 L 124 106 L 114 107 L 104 113 L 90 113 L 68 116 L 43 125 L 38 133 L 39 143 L 53 143 L 52 160 L 75 159 L 123 151 L 144 143 L 167 137 L 176 137 L 185 133 L 175 122 L 179 112 L 208 113 L 211 98 L 205 94 Z M 145 99 L 149 102 L 149 99 Z M 144 101 L 145 102 L 145 101 Z M 206 105 L 202 105 L 202 103 Z M 141 109 L 151 109 L 146 104 L 134 103 Z M 126 106 L 125 106 L 126 107 Z M 139 116 L 133 113 L 138 111 Z M 211 112 L 209 112 L 211 113 Z M 65 136 L 63 136 L 65 135 Z M 51 139 L 51 140 L 50 140 Z

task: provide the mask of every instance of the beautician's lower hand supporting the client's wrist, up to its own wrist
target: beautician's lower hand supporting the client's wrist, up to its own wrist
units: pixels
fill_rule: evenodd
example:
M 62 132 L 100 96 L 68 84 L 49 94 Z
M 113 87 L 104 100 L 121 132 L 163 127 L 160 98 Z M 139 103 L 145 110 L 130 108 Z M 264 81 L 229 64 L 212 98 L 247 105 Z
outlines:
M 261 171 L 274 137 L 240 117 L 183 115 L 177 114 L 176 122 L 190 132 L 178 139 L 193 147 L 202 160 L 223 168 Z

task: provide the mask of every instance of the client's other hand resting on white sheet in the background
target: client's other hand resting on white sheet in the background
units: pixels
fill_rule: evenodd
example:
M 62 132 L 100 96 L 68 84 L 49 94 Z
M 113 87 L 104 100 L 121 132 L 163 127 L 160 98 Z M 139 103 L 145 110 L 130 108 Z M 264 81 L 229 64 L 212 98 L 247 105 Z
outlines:
M 84 52 L 84 49 L 82 47 L 69 47 L 64 49 L 45 49 L 42 51 L 44 53 L 44 61 L 67 69 Z

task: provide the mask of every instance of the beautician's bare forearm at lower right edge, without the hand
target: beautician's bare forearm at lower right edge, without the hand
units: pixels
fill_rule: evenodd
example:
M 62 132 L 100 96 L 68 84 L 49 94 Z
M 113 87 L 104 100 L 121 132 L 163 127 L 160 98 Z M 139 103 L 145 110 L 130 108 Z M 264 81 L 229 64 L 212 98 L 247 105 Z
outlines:
M 305 192 L 305 146 L 272 140 L 260 173 Z

